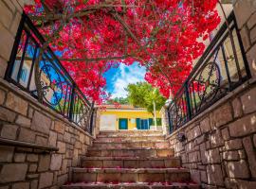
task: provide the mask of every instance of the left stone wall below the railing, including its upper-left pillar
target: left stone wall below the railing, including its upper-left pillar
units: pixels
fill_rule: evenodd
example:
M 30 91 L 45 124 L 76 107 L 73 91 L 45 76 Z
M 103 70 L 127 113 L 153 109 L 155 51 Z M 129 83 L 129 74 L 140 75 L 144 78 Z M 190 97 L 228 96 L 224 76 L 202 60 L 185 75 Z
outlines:
M 0 0 L 0 189 L 58 188 L 94 137 L 3 79 L 25 2 L 32 1 Z

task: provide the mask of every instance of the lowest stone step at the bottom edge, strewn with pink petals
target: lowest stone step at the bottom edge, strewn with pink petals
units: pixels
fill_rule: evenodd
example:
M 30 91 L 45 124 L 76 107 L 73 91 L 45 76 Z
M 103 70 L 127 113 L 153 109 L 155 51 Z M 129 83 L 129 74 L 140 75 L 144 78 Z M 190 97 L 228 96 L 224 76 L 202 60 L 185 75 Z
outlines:
M 121 183 L 102 183 L 102 182 L 77 182 L 67 183 L 62 189 L 199 189 L 199 185 L 193 182 L 121 182 Z

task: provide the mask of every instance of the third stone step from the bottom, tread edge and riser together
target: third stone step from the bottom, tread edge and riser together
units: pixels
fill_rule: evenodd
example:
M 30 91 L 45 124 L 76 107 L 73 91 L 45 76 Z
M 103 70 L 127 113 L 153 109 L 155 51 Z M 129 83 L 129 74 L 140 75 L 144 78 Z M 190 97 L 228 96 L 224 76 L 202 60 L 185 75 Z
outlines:
M 180 158 L 84 157 L 84 168 L 174 168 L 180 167 Z

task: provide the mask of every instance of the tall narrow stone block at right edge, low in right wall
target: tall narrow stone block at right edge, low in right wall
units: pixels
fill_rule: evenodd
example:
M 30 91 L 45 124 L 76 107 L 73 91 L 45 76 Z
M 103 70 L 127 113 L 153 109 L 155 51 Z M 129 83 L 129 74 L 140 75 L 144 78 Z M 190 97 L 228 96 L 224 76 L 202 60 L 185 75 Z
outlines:
M 255 156 L 255 149 L 252 145 L 252 142 L 249 136 L 243 139 L 243 145 L 247 152 L 247 160 L 248 160 L 251 176 L 255 179 L 256 178 L 256 156 Z

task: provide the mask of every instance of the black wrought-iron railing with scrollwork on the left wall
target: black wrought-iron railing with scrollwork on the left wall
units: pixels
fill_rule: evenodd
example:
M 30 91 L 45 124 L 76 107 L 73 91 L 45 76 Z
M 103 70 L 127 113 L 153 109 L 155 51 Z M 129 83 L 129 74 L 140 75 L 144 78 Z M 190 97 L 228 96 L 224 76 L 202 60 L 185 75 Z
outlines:
M 36 76 L 40 78 L 43 104 L 61 113 L 69 121 L 92 134 L 93 106 L 77 87 L 64 66 L 49 46 L 43 52 L 39 62 L 39 72 L 35 63 L 40 48 L 46 41 L 33 26 L 26 14 L 23 14 L 11 52 L 6 79 L 39 99 Z

